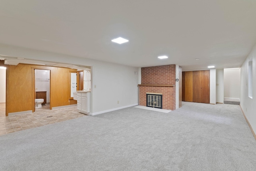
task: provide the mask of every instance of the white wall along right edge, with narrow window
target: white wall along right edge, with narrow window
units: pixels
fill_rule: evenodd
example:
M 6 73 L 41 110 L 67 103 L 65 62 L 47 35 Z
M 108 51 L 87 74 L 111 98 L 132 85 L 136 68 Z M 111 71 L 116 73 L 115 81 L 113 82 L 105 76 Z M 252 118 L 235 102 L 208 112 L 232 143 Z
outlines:
M 252 61 L 252 99 L 248 97 L 248 62 Z M 256 133 L 256 46 L 241 67 L 240 106 Z

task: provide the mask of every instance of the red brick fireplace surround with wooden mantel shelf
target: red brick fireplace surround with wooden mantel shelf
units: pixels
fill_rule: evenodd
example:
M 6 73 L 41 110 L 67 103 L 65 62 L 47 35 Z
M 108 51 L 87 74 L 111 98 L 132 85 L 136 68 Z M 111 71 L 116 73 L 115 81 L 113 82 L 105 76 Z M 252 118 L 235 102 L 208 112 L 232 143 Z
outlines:
M 176 109 L 176 65 L 141 68 L 139 105 L 147 106 L 146 93 L 162 95 L 162 109 Z

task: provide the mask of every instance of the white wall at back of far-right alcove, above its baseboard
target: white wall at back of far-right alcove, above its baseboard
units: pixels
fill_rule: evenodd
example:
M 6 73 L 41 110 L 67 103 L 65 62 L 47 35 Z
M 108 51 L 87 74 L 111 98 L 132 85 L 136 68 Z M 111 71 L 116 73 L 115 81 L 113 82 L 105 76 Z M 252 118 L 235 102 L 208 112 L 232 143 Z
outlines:
M 240 99 L 240 69 L 224 70 L 224 98 Z

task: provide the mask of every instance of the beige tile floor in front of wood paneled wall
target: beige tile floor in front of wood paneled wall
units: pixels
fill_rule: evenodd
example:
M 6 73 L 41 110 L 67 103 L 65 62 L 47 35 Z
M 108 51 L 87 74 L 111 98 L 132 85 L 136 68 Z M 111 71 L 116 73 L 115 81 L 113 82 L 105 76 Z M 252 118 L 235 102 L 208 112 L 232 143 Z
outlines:
M 79 113 L 76 106 L 50 110 L 49 104 L 42 105 L 42 108 L 36 109 L 34 113 L 5 116 L 4 103 L 0 104 L 0 135 L 83 116 L 86 115 Z

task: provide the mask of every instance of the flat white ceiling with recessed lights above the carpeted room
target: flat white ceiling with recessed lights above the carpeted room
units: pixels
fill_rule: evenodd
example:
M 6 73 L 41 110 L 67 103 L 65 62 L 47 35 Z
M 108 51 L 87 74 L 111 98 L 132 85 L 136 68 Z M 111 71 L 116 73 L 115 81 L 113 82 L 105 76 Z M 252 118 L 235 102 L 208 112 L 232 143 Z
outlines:
M 136 67 L 236 68 L 256 44 L 255 21 L 256 0 L 1 0 L 0 43 Z M 129 42 L 111 42 L 119 36 Z

